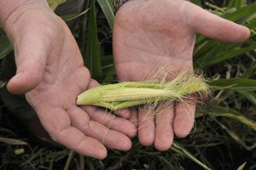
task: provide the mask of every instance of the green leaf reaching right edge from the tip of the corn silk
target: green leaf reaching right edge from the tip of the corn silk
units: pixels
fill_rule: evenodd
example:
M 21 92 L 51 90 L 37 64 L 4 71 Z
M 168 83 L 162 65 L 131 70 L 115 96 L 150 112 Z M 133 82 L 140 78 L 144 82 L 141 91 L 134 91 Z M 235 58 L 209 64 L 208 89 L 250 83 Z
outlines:
M 232 90 L 256 90 L 256 80 L 247 78 L 230 78 L 230 79 L 219 79 L 217 81 L 209 82 L 209 85 L 213 89 L 232 89 Z

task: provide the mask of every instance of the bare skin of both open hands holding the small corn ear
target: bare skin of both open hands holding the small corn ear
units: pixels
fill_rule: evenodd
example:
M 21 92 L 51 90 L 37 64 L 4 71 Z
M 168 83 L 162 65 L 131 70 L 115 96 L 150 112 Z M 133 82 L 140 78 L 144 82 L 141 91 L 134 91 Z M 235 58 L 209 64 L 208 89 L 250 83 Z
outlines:
M 129 150 L 136 135 L 140 142 L 167 150 L 174 133 L 186 136 L 194 122 L 195 103 L 177 103 L 155 119 L 147 108 L 120 111 L 129 118 L 106 115 L 97 107 L 75 105 L 78 94 L 98 85 L 84 67 L 79 48 L 66 24 L 47 3 L 0 0 L 0 21 L 15 48 L 17 74 L 9 92 L 26 94 L 27 101 L 55 141 L 84 156 L 99 159 L 108 148 Z M 236 32 L 236 34 L 234 34 Z M 116 15 L 113 53 L 122 81 L 147 79 L 156 65 L 168 63 L 172 77 L 192 70 L 195 33 L 224 42 L 242 42 L 249 31 L 222 20 L 183 0 L 130 0 Z M 102 118 L 103 117 L 103 118 Z M 112 122 L 112 123 L 110 123 Z M 110 129 L 108 129 L 110 128 Z M 103 141 L 103 144 L 102 144 Z M 105 147 L 106 146 L 106 147 Z

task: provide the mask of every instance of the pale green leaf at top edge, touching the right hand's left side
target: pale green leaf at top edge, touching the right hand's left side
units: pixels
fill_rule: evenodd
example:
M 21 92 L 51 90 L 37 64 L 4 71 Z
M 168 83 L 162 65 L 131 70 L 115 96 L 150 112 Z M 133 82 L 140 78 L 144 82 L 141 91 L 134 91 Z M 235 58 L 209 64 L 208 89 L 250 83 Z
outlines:
M 110 3 L 109 0 L 97 0 L 100 4 L 103 13 L 105 14 L 106 19 L 108 20 L 108 25 L 110 26 L 111 30 L 113 30 L 113 5 Z

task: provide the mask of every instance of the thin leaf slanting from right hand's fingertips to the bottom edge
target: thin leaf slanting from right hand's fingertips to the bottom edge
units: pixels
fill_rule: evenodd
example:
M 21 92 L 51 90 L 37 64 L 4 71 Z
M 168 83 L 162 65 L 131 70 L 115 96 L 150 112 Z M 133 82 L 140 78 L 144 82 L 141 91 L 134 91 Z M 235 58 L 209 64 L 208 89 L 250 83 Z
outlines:
M 207 170 L 210 170 L 210 167 L 207 167 L 207 165 L 203 164 L 201 161 L 195 158 L 191 153 L 189 153 L 188 150 L 185 150 L 180 144 L 177 144 L 177 142 L 174 142 L 170 148 L 170 150 L 177 152 L 178 154 L 185 156 L 189 158 L 191 161 L 195 161 L 198 165 L 201 167 L 204 167 Z

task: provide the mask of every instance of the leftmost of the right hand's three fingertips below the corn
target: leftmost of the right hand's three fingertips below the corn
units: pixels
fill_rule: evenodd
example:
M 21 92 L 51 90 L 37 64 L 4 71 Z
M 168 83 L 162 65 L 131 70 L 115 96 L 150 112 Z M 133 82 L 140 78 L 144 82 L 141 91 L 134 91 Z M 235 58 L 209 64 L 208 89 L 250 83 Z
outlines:
M 140 143 L 149 146 L 154 143 L 154 116 L 147 108 L 141 108 L 138 112 L 138 137 Z

